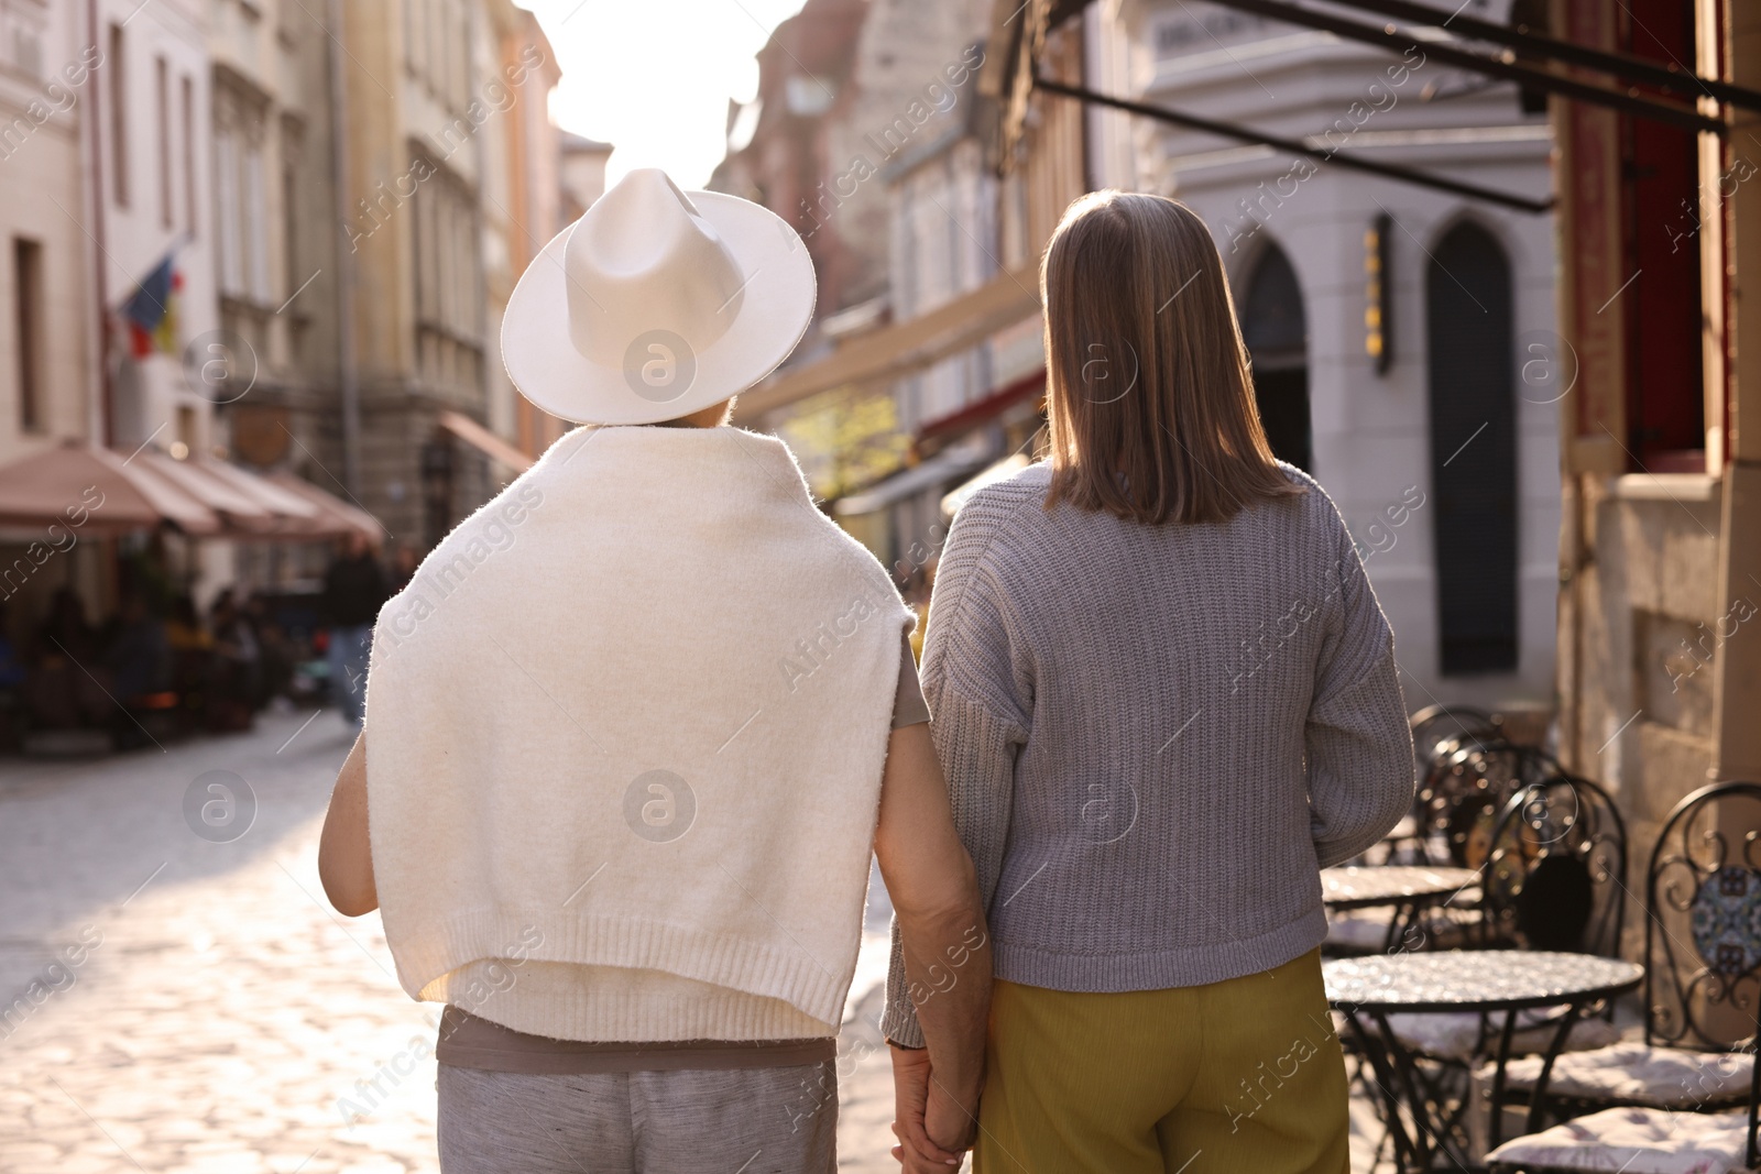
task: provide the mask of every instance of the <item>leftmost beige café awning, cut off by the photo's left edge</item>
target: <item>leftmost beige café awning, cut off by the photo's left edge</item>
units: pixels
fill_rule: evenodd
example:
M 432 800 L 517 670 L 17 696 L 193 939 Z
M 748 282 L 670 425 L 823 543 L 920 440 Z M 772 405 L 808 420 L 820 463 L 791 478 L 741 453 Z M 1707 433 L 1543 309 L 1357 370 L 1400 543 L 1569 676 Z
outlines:
M 120 533 L 171 523 L 218 533 L 220 517 L 139 459 L 70 442 L 0 468 L 0 525 Z

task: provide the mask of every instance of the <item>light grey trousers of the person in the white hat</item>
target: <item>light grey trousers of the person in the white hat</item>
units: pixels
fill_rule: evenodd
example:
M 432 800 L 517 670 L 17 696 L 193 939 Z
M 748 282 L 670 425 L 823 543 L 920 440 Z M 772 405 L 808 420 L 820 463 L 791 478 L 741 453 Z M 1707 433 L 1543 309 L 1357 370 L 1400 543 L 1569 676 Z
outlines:
M 442 1174 L 835 1174 L 838 1072 L 440 1065 Z

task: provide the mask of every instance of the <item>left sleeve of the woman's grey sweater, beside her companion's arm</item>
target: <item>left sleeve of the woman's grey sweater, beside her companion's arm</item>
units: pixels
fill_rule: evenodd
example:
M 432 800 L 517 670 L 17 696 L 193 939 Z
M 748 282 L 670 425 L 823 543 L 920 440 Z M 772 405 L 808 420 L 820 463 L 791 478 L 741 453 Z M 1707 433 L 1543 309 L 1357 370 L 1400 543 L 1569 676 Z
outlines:
M 949 533 L 923 644 L 930 736 L 947 776 L 954 829 L 972 855 L 984 908 L 990 908 L 1002 875 L 1014 803 L 1014 759 L 1027 743 L 1032 713 L 1032 679 L 1018 664 L 1021 649 L 1009 639 L 1000 591 L 983 565 L 993 525 L 1000 521 L 990 507 L 991 502 L 974 498 Z M 896 919 L 880 1031 L 895 1044 L 923 1047 Z

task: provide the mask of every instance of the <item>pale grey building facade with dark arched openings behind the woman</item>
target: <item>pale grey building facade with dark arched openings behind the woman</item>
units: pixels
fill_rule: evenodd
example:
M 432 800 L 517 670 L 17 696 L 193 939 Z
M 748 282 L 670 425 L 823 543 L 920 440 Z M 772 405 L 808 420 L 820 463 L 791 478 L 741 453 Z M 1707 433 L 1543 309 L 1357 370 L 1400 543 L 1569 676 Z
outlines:
M 1449 4 L 1504 23 L 1509 0 Z M 1407 702 L 1551 704 L 1558 408 L 1553 224 L 1340 165 L 1544 201 L 1546 106 L 1514 83 L 1212 4 L 1092 5 L 1090 86 L 1324 144 L 1293 157 L 1090 107 L 1097 187 L 1212 227 L 1261 419 L 1345 516 L 1395 628 Z

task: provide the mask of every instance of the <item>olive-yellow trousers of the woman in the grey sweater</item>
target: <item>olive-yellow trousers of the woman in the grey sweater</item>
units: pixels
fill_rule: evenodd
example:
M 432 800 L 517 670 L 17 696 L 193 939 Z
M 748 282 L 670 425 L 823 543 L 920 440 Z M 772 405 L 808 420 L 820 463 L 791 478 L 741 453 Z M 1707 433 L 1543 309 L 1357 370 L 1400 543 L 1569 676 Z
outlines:
M 997 980 L 974 1174 L 1345 1174 L 1321 950 L 1208 986 Z

